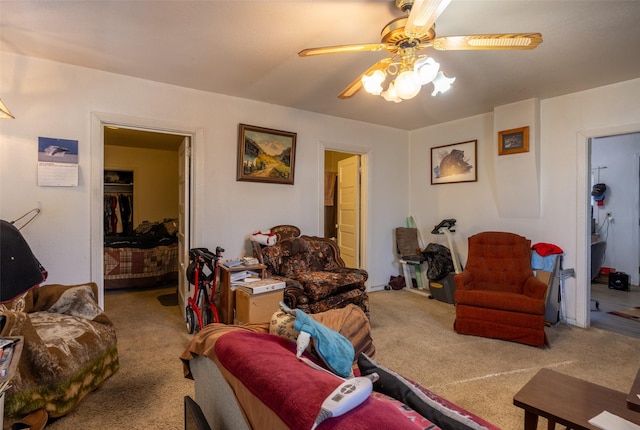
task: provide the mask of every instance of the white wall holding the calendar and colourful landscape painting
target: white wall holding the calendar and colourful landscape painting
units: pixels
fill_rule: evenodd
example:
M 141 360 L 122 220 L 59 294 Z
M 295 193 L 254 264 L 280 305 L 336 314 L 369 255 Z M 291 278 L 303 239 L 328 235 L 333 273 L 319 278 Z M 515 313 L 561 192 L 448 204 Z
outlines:
M 276 224 L 322 233 L 324 149 L 369 155 L 369 286 L 397 274 L 392 231 L 404 223 L 409 200 L 408 133 L 311 112 L 195 91 L 30 57 L 0 53 L 0 94 L 15 120 L 0 121 L 0 217 L 43 211 L 23 235 L 49 271 L 49 283 L 91 278 L 93 112 L 199 130 L 195 142 L 195 243 L 244 253 L 246 237 Z M 345 101 L 348 103 L 348 101 Z M 237 182 L 238 123 L 297 133 L 295 185 Z M 39 136 L 79 141 L 77 187 L 38 187 Z

